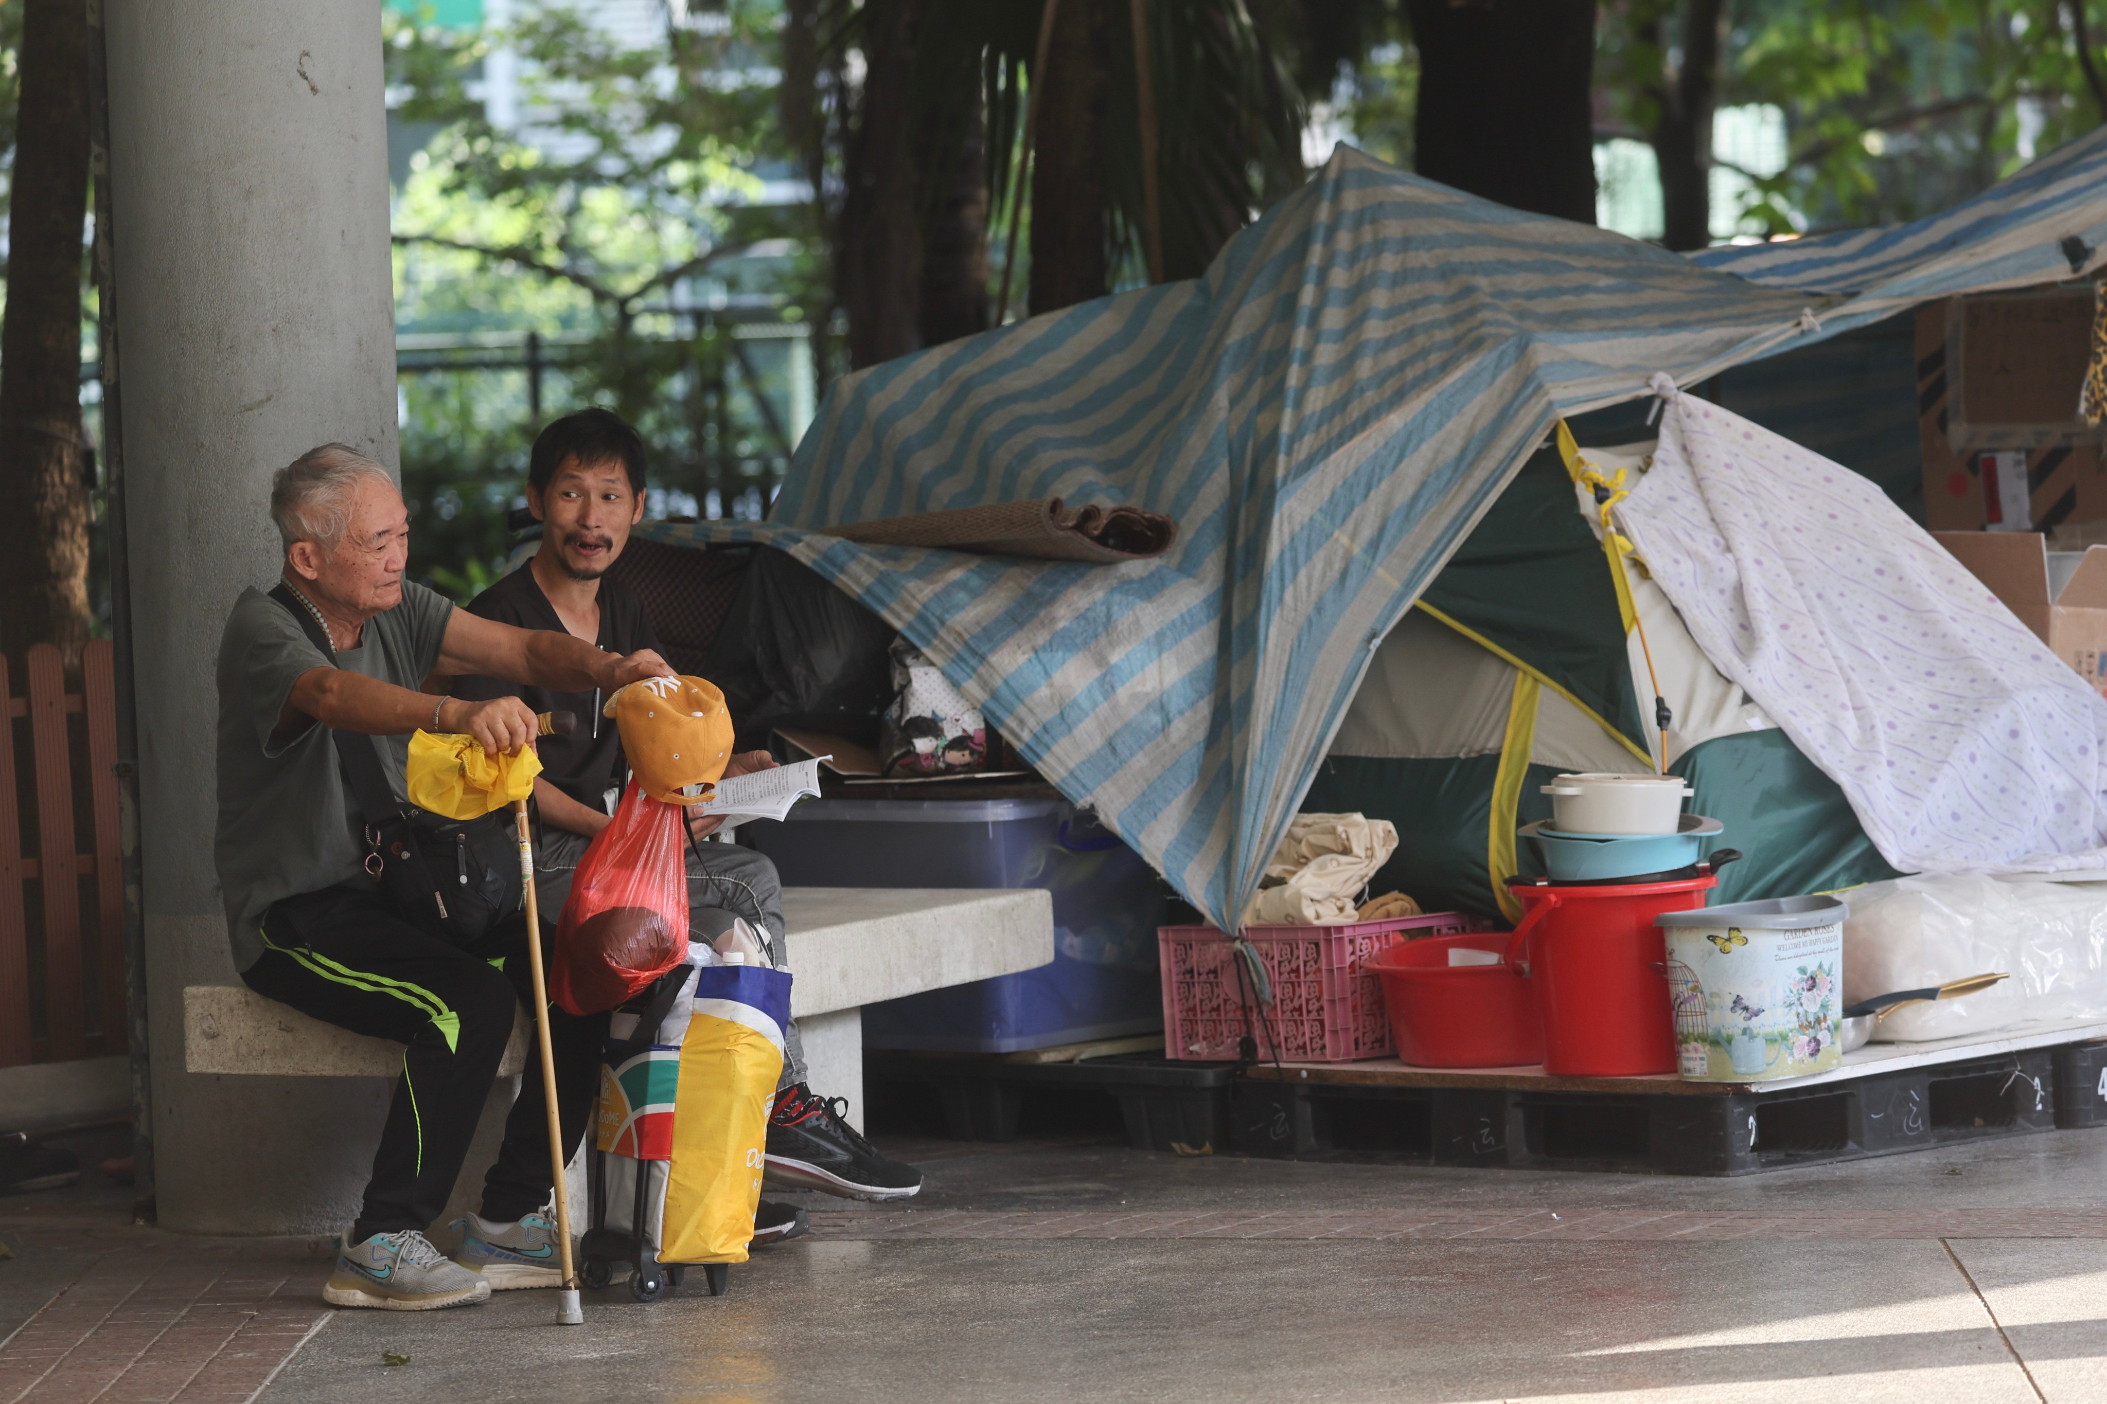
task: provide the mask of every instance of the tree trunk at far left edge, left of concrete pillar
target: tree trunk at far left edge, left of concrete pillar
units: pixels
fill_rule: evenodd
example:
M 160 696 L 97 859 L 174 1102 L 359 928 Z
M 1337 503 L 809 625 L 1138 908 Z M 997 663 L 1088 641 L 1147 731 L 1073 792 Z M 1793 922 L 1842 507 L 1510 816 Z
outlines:
M 27 0 L 0 320 L 0 648 L 88 642 L 88 488 L 80 442 L 80 232 L 88 206 L 88 21 Z

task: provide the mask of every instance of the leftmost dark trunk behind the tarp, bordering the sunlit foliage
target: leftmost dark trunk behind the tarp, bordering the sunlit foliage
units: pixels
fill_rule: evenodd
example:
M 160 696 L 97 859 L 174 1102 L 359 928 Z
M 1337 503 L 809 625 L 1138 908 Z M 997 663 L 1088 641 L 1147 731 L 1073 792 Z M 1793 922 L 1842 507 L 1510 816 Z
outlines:
M 864 93 L 849 133 L 834 263 L 849 314 L 849 364 L 917 349 L 921 326 L 921 189 L 914 152 L 914 38 L 921 0 L 872 0 Z

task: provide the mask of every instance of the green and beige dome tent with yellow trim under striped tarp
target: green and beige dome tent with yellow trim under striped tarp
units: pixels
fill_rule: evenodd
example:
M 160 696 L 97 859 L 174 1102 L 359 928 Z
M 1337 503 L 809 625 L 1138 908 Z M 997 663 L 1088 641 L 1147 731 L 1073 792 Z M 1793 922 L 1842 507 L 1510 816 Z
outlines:
M 1589 457 L 1637 472 L 1643 453 Z M 1673 716 L 1669 770 L 1696 789 L 1688 813 L 1726 825 L 1715 846 L 1747 855 L 1721 869 L 1715 899 L 1892 878 L 1837 783 L 1719 676 L 1643 573 L 1631 591 Z M 1515 838 L 1551 817 L 1542 785 L 1561 770 L 1652 770 L 1652 699 L 1601 543 L 1544 448 L 1384 638 L 1302 808 L 1397 825 L 1374 890 L 1513 920 L 1504 878 L 1542 871 Z

